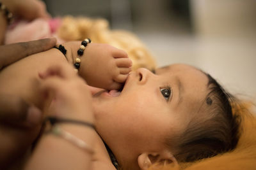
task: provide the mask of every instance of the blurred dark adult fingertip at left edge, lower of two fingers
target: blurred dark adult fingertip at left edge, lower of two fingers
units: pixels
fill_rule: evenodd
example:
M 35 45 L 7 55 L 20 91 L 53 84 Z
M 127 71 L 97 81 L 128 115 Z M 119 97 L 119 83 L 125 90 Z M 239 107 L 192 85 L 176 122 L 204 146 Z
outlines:
M 35 106 L 10 94 L 0 94 L 0 122 L 24 127 L 40 124 L 42 113 Z

